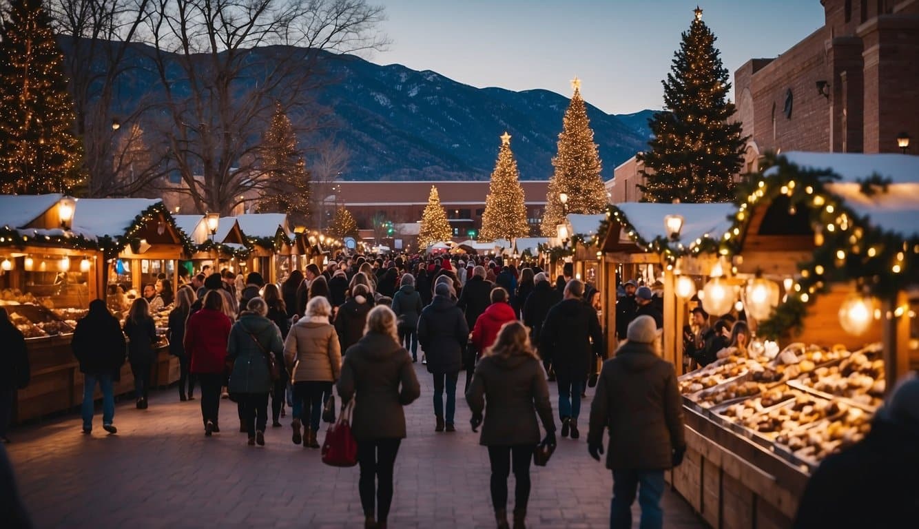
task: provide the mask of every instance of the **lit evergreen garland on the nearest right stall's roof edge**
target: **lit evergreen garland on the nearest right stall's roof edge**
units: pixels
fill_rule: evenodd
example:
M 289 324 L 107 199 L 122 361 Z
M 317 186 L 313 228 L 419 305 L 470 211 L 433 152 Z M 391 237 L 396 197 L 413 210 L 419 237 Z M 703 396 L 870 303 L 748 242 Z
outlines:
M 839 179 L 830 169 L 804 169 L 785 157 L 768 156 L 766 167 L 777 166 L 775 174 L 755 175 L 738 195 L 738 210 L 731 231 L 724 235 L 720 253 L 738 253 L 758 203 L 789 200 L 789 214 L 806 208 L 814 228 L 816 248 L 811 260 L 800 263 L 791 291 L 773 315 L 760 323 L 760 332 L 775 337 L 790 329 L 800 330 L 814 298 L 827 284 L 855 279 L 858 287 L 875 296 L 891 296 L 916 273 L 919 238 L 903 240 L 890 231 L 872 228 L 869 219 L 857 215 L 845 202 L 825 188 Z M 860 180 L 863 192 L 886 193 L 890 180 L 872 174 Z

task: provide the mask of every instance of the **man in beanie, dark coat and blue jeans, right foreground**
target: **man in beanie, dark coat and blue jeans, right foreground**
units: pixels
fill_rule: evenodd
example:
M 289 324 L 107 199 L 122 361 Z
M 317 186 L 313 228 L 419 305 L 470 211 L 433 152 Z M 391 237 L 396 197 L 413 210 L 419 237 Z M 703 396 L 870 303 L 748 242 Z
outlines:
M 603 454 L 603 433 L 609 430 L 610 529 L 631 527 L 636 490 L 641 527 L 662 527 L 664 470 L 679 466 L 686 453 L 676 372 L 658 355 L 657 336 L 651 316 L 639 316 L 629 324 L 628 341 L 603 364 L 590 409 L 587 446 L 597 461 Z

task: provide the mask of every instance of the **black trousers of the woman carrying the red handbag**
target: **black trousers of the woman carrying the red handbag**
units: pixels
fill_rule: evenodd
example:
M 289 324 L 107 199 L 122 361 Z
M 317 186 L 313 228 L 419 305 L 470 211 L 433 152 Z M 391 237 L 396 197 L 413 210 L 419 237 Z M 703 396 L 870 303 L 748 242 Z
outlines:
M 392 503 L 392 467 L 402 439 L 357 439 L 357 463 L 360 478 L 357 490 L 364 516 L 374 515 L 374 489 L 376 489 L 376 519 L 385 522 Z M 374 481 L 377 481 L 374 487 Z

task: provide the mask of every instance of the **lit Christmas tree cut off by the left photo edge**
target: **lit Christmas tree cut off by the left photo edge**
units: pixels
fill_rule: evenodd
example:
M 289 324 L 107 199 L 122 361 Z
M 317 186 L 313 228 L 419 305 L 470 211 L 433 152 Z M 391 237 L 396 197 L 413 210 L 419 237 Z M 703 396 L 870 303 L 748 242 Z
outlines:
M 13 0 L 0 31 L 0 192 L 73 193 L 84 182 L 61 49 L 40 0 Z

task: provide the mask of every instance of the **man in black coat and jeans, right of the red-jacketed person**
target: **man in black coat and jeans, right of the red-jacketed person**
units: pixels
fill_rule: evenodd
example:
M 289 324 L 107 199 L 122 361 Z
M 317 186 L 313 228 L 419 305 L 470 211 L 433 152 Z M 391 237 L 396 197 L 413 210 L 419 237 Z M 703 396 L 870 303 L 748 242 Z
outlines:
M 581 433 L 577 419 L 581 414 L 581 385 L 584 373 L 596 356 L 603 355 L 603 332 L 596 320 L 596 310 L 581 300 L 584 283 L 572 279 L 565 286 L 564 299 L 546 315 L 539 334 L 539 352 L 555 369 L 559 386 L 559 416 L 562 437 L 571 433 L 577 439 Z

